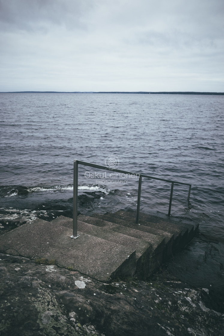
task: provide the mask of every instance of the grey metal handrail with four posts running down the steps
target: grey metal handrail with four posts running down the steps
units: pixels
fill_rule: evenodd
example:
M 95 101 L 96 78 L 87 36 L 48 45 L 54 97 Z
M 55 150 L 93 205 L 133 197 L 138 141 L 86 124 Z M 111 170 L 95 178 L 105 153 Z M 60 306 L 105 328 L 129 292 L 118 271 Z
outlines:
M 77 233 L 77 228 L 78 228 L 78 218 L 77 218 L 78 217 L 78 165 L 79 164 L 83 165 L 83 166 L 89 166 L 89 167 L 93 167 L 93 168 L 110 170 L 110 171 L 114 171 L 114 172 L 117 172 L 117 173 L 130 174 L 130 175 L 135 175 L 135 176 L 139 177 L 136 224 L 138 224 L 138 220 L 139 220 L 142 177 L 171 183 L 168 216 L 170 216 L 170 212 L 171 212 L 174 183 L 189 185 L 187 200 L 189 201 L 189 198 L 190 198 L 191 184 L 189 184 L 189 183 L 167 180 L 165 178 L 159 178 L 159 177 L 149 176 L 149 175 L 140 174 L 140 173 L 132 173 L 132 172 L 129 172 L 129 171 L 126 171 L 126 170 L 100 166 L 100 165 L 96 165 L 94 163 L 89 163 L 89 162 L 85 162 L 85 161 L 74 160 L 74 170 L 73 170 L 73 235 L 71 236 L 71 238 L 74 238 L 74 239 L 79 237 L 79 234 Z

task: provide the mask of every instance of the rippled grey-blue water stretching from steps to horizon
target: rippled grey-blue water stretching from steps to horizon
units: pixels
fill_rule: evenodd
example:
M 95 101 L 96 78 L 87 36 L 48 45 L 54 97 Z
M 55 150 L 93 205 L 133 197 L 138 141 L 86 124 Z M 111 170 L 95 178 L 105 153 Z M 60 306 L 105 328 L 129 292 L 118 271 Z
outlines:
M 0 208 L 72 217 L 81 160 L 190 183 L 189 202 L 188 186 L 174 184 L 171 216 L 224 242 L 223 112 L 223 95 L 0 93 Z M 136 210 L 138 177 L 79 165 L 78 183 L 83 214 Z M 170 190 L 143 178 L 140 211 L 166 216 Z

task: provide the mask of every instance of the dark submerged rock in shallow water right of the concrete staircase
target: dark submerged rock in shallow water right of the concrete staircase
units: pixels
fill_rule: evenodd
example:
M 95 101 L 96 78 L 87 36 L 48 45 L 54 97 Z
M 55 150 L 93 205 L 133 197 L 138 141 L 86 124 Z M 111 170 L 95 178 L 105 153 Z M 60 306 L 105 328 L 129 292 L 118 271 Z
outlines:
M 195 237 L 173 260 L 168 271 L 183 282 L 202 288 L 206 305 L 224 312 L 224 244 Z M 209 295 L 207 295 L 209 294 Z

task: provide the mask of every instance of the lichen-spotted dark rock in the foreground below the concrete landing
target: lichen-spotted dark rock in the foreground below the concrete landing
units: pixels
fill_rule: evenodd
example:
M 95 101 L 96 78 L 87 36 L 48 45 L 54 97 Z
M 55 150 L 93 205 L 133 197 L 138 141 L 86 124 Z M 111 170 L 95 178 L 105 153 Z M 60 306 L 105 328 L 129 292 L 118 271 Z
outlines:
M 213 287 L 174 280 L 165 267 L 148 282 L 103 284 L 77 271 L 0 254 L 0 276 L 1 336 L 224 335 Z

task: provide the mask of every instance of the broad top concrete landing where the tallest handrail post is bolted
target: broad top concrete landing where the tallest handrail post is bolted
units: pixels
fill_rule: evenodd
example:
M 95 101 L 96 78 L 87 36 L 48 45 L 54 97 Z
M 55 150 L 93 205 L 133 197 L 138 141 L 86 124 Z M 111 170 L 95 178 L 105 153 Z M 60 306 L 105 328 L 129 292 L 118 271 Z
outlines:
M 132 276 L 135 249 L 78 231 L 71 239 L 70 228 L 60 222 L 36 219 L 0 236 L 0 252 L 31 259 L 55 259 L 61 267 L 75 270 L 103 282 Z

